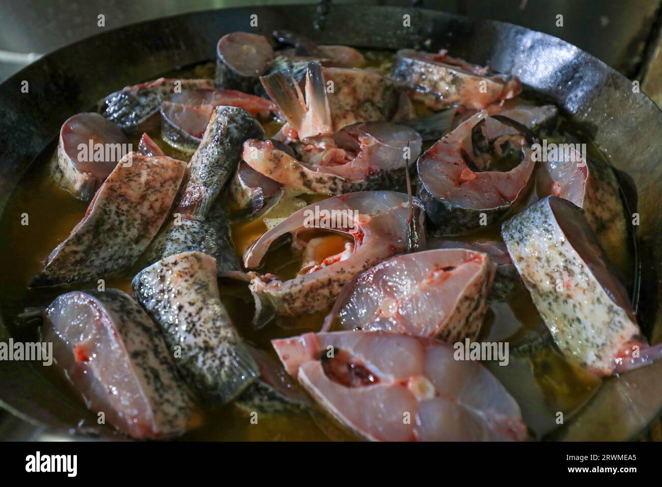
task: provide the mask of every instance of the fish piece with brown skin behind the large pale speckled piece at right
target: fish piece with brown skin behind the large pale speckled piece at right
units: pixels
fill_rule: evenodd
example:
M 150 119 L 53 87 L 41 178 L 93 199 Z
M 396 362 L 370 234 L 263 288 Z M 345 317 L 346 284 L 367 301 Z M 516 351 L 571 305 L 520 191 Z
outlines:
M 581 154 L 572 144 L 553 147 L 548 148 L 544 141 L 540 149 L 545 157 L 538 158 L 536 166 L 538 197 L 559 196 L 583 209 L 610 262 L 620 270 L 627 268 L 627 259 L 620 256 L 626 253 L 623 250 L 628 248 L 630 234 L 614 171 L 606 162 Z

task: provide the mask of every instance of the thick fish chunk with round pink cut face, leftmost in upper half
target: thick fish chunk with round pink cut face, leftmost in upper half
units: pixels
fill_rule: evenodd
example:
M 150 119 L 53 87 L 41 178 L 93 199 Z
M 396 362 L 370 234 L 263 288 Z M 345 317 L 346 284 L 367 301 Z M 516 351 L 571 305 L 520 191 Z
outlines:
M 77 125 L 73 125 L 77 124 Z M 77 129 L 78 132 L 74 130 Z M 53 179 L 61 188 L 66 189 L 78 199 L 89 201 L 99 186 L 117 165 L 115 161 L 81 162 L 68 153 L 68 136 L 82 136 L 88 131 L 89 139 L 95 144 L 126 144 L 126 136 L 114 123 L 107 121 L 98 113 L 77 113 L 62 124 L 58 148 L 53 156 L 51 173 Z M 76 144 L 76 148 L 77 148 Z M 78 153 L 78 150 L 76 149 Z M 78 154 L 77 154 L 78 155 Z M 92 154 L 89 154 L 91 156 Z M 92 165 L 90 165 L 92 164 Z

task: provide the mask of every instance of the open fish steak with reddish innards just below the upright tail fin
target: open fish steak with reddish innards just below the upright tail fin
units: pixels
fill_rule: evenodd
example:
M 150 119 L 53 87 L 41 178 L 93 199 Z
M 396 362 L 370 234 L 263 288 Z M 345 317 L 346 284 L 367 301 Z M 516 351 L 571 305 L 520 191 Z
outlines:
M 256 139 L 244 142 L 243 158 L 254 170 L 285 186 L 306 193 L 339 195 L 403 188 L 404 158 L 416 160 L 421 146 L 414 129 L 369 122 L 350 125 L 323 140 L 308 138 L 298 148 L 301 161 L 270 140 Z

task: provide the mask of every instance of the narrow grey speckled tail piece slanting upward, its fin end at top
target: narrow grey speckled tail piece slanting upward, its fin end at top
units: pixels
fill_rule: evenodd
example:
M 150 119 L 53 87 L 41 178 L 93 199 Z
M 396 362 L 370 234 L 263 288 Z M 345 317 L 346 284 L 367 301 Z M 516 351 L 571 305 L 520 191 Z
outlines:
M 224 105 L 216 107 L 203 140 L 189 162 L 189 181 L 175 211 L 205 219 L 242 158 L 244 140 L 263 136 L 262 126 L 246 110 Z

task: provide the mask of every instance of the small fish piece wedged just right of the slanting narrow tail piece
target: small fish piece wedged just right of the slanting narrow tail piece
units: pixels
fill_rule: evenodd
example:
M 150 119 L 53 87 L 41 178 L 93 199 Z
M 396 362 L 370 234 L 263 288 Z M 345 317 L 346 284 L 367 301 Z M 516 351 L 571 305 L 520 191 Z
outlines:
M 279 146 L 279 142 L 273 140 L 272 142 L 275 147 Z M 272 197 L 282 195 L 282 187 L 281 183 L 260 174 L 242 160 L 230 180 L 229 189 L 232 199 L 240 208 L 246 209 L 250 215 L 255 215 L 269 204 Z

